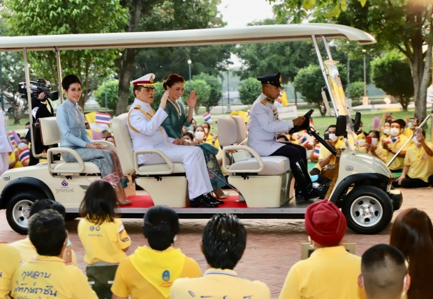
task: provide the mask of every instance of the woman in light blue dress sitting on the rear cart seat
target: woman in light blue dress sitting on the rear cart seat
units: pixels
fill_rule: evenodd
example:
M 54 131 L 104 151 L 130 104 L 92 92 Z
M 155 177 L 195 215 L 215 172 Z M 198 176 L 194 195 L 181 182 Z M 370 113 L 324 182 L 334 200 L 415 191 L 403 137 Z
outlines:
M 57 108 L 60 129 L 60 146 L 72 148 L 83 161 L 92 162 L 101 171 L 102 179 L 115 187 L 119 205 L 132 204 L 126 199 L 122 182 L 127 181 L 117 153 L 109 146 L 92 142 L 86 131 L 85 115 L 78 101 L 82 95 L 81 82 L 75 75 L 67 75 L 61 81 L 66 100 Z M 77 162 L 70 153 L 61 153 L 65 162 Z

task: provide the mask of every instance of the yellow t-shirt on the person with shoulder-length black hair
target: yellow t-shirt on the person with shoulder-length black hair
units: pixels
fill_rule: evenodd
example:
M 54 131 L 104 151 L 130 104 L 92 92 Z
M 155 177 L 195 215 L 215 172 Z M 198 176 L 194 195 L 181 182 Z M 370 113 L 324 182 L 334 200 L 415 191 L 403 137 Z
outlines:
M 83 218 L 78 223 L 78 236 L 85 247 L 85 262 L 90 265 L 98 261 L 120 263 L 126 257 L 123 249 L 131 245 L 131 238 L 117 218 L 100 226 Z

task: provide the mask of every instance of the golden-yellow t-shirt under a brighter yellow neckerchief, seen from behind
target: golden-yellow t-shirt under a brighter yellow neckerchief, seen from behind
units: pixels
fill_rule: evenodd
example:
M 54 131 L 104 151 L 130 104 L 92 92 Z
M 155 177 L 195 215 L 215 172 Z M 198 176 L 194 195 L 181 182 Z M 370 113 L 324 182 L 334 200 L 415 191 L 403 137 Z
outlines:
M 184 268 L 180 277 L 199 277 L 201 275 L 202 272 L 198 263 L 185 256 Z M 166 299 L 154 285 L 138 273 L 131 263 L 131 256 L 120 262 L 111 291 L 116 296 L 131 296 L 132 299 Z

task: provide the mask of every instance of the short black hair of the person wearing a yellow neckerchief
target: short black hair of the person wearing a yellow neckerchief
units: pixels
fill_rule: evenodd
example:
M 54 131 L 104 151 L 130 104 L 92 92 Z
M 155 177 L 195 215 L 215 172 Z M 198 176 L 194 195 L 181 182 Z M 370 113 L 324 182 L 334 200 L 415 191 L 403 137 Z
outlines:
M 173 208 L 153 206 L 144 217 L 143 235 L 153 250 L 163 251 L 175 242 L 179 233 L 179 217 Z

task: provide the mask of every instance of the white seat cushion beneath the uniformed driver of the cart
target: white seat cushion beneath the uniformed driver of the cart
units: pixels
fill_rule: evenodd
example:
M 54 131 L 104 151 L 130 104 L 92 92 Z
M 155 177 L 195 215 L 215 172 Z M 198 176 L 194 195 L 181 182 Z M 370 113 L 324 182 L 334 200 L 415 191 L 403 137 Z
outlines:
M 284 174 L 290 169 L 288 158 L 283 156 L 261 157 L 265 168 L 258 173 L 259 176 L 279 176 Z M 258 162 L 256 158 L 244 160 L 231 164 L 228 168 L 230 170 L 245 170 L 245 169 L 258 169 Z

